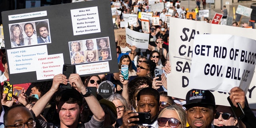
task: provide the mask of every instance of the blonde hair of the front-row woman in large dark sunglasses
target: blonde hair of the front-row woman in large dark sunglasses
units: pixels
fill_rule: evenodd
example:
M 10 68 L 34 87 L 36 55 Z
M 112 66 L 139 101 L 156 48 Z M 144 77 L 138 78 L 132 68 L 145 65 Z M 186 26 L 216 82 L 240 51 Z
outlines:
M 159 113 L 158 118 L 162 116 L 165 110 L 174 110 L 178 114 L 178 117 L 180 118 L 179 121 L 181 122 L 182 128 L 186 127 L 186 122 L 187 122 L 186 111 L 183 108 L 177 105 L 167 106 Z

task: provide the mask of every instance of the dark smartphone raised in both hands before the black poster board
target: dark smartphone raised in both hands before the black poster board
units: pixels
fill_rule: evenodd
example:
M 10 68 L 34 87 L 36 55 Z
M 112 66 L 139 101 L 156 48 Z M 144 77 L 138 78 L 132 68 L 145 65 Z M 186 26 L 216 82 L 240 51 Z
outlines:
M 69 78 L 70 74 L 75 73 L 76 72 L 76 66 L 75 65 L 71 65 L 71 64 L 63 64 L 63 69 L 62 69 L 62 74 L 64 74 L 67 79 Z M 69 84 L 60 84 L 60 88 L 66 88 L 66 89 L 71 89 L 72 86 Z

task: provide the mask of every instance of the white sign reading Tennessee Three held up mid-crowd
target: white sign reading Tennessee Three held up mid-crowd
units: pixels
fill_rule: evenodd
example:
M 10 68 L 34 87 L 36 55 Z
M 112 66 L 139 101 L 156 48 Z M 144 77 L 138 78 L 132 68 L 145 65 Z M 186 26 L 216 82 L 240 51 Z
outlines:
M 136 46 L 137 48 L 148 48 L 148 33 L 136 32 L 126 28 L 126 42 L 131 46 Z

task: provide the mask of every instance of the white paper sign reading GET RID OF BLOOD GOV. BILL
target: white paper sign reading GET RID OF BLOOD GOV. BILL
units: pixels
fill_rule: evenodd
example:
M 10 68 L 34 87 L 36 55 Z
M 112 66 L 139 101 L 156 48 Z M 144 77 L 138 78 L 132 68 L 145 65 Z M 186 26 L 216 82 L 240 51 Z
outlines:
M 256 40 L 250 38 L 228 34 L 195 35 L 188 87 L 229 92 L 240 86 L 247 92 L 254 74 L 255 49 Z

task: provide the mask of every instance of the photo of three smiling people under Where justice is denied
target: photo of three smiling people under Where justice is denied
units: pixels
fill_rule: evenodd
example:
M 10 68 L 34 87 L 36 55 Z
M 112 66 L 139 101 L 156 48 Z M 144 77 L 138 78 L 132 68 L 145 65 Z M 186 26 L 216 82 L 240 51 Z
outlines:
M 50 43 L 48 20 L 9 24 L 11 46 L 29 46 Z

